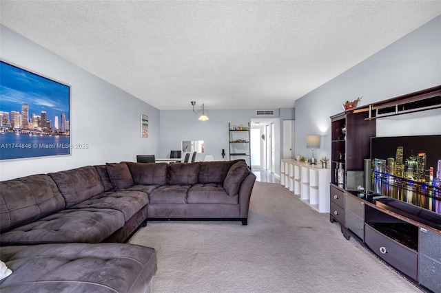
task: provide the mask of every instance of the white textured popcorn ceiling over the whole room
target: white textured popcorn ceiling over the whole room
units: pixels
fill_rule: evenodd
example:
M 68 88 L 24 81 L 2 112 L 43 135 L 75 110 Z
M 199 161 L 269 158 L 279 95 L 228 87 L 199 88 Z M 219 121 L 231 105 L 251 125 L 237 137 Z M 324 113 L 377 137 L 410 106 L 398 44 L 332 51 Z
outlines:
M 294 107 L 441 14 L 439 0 L 0 3 L 3 25 L 158 109 Z

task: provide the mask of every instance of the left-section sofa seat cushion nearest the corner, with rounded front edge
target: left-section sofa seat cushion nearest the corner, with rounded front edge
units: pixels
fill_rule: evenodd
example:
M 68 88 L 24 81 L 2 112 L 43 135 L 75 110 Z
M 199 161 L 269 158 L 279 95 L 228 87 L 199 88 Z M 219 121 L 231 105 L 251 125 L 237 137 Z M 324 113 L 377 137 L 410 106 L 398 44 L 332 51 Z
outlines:
M 128 221 L 148 203 L 147 193 L 141 191 L 109 191 L 76 204 L 72 208 L 112 208 L 121 211 L 125 221 Z

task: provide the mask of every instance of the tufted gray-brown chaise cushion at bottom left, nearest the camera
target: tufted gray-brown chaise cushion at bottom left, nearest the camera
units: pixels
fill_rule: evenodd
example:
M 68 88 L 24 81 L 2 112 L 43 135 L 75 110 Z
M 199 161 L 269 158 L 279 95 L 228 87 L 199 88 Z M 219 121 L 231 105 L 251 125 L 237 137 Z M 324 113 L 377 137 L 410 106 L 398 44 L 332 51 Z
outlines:
M 1 292 L 150 292 L 157 270 L 153 248 L 123 243 L 8 246 L 1 260 Z

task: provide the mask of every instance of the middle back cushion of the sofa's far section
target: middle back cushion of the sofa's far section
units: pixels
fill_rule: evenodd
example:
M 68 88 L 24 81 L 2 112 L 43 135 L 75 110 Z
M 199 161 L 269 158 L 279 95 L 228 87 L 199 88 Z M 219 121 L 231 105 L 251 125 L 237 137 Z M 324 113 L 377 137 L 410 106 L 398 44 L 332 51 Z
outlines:
M 200 163 L 174 163 L 168 165 L 168 184 L 193 185 L 198 183 Z

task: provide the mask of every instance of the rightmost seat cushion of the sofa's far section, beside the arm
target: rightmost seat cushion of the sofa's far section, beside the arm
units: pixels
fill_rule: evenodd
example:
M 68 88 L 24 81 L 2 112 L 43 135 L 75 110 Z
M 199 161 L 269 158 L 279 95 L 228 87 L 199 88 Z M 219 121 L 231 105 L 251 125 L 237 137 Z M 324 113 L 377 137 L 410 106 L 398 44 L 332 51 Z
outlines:
M 222 184 L 194 184 L 187 193 L 188 204 L 238 204 L 239 196 L 229 196 Z

